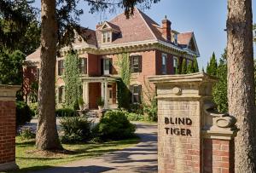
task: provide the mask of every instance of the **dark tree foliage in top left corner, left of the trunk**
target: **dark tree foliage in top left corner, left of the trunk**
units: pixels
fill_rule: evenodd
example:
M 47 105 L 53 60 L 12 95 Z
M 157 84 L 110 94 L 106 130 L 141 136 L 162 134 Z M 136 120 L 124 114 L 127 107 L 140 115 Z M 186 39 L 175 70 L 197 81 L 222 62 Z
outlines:
M 40 44 L 39 9 L 33 1 L 0 1 L 0 47 L 29 55 Z

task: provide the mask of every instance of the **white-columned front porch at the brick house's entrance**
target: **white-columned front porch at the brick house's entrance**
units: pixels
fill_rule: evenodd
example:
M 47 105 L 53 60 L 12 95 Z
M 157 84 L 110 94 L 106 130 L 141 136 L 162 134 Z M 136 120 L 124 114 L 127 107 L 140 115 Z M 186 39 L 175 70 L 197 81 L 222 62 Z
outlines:
M 116 77 L 84 77 L 83 100 L 85 108 L 97 109 L 97 100 L 104 101 L 104 109 L 118 107 Z

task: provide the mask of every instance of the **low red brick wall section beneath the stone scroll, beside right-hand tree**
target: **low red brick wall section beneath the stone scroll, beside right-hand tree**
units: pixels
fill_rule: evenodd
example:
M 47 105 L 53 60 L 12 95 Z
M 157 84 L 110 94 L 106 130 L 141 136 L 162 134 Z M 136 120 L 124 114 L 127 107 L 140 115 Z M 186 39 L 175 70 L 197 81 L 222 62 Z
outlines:
M 234 141 L 204 139 L 203 169 L 205 173 L 233 173 Z

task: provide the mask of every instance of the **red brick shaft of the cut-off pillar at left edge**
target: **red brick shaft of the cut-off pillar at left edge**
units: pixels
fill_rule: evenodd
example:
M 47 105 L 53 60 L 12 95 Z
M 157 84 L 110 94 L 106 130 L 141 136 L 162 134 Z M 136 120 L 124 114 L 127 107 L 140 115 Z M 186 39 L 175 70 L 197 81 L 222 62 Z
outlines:
M 15 161 L 15 101 L 0 101 L 0 164 Z

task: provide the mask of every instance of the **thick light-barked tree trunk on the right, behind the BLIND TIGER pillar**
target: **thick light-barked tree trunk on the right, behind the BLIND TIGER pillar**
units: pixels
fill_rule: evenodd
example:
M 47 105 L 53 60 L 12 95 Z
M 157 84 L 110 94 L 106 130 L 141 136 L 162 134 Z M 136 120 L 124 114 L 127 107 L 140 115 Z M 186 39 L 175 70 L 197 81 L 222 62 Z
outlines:
M 251 0 L 228 0 L 228 100 L 237 119 L 236 172 L 255 172 L 255 97 Z

